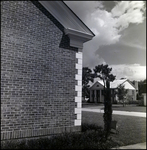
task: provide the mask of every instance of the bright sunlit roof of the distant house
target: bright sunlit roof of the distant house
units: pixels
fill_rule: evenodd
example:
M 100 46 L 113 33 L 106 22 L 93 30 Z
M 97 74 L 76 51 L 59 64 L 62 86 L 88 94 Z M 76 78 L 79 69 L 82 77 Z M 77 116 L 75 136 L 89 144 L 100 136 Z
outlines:
M 95 78 L 94 82 L 93 83 L 91 82 L 89 84 L 90 87 L 92 87 L 97 82 L 104 86 L 104 83 L 102 80 L 99 80 L 99 78 Z M 135 87 L 127 79 L 114 80 L 113 82 L 110 82 L 110 88 L 112 89 L 117 88 L 119 85 L 124 85 L 125 89 L 135 90 Z

